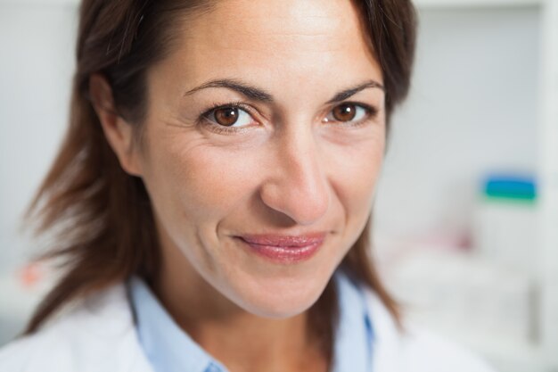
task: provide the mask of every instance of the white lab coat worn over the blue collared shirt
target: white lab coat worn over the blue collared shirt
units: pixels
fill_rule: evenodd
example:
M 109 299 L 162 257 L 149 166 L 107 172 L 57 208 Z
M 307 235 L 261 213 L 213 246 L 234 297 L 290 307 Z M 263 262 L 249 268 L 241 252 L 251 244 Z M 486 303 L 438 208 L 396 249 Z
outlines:
M 493 372 L 434 335 L 410 327 L 400 334 L 382 302 L 367 295 L 375 332 L 373 372 Z M 90 296 L 36 334 L 5 346 L 0 371 L 153 372 L 122 284 Z

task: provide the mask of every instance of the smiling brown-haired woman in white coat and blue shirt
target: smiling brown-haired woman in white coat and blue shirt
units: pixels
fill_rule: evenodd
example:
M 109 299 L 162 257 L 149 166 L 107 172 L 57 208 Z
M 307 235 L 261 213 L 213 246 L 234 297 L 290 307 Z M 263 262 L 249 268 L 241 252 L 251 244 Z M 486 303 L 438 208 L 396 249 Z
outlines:
M 369 257 L 414 32 L 407 0 L 84 0 L 33 207 L 64 271 L 0 370 L 488 370 Z

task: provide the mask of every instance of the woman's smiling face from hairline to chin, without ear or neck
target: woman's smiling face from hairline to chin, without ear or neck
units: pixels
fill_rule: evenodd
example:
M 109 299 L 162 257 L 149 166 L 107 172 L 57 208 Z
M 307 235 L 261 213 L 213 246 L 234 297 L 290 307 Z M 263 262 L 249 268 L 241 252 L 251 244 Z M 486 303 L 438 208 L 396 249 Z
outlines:
M 137 148 L 162 275 L 259 316 L 298 314 L 365 227 L 382 164 L 382 71 L 357 10 L 222 1 L 181 32 L 148 73 Z

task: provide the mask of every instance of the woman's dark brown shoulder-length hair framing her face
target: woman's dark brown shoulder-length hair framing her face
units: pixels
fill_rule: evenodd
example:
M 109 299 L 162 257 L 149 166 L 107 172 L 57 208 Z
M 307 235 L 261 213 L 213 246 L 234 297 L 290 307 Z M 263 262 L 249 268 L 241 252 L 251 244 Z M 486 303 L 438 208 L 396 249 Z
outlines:
M 382 67 L 389 122 L 409 89 L 414 59 L 415 13 L 410 0 L 355 0 L 375 57 Z M 103 136 L 89 99 L 89 78 L 108 80 L 119 115 L 141 128 L 145 72 L 171 50 L 178 17 L 210 9 L 202 0 L 84 0 L 80 7 L 77 70 L 70 128 L 58 157 L 29 209 L 37 233 L 54 232 L 43 258 L 62 259 L 62 276 L 39 304 L 25 334 L 36 332 L 65 305 L 137 275 L 158 277 L 160 247 L 144 184 L 124 172 Z M 136 130 L 137 132 L 137 130 Z M 369 227 L 341 263 L 349 277 L 378 294 L 398 320 L 398 306 L 384 289 L 371 256 Z M 337 318 L 334 285 L 312 306 L 309 325 L 331 355 Z

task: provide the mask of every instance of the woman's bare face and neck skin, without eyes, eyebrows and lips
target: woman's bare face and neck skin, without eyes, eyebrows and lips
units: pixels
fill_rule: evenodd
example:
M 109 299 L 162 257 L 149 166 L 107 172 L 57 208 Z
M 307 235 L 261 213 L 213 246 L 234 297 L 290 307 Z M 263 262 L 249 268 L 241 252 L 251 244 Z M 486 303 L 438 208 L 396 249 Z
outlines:
M 349 98 L 378 108 L 365 124 L 323 122 L 336 93 L 383 82 L 357 12 L 344 0 L 230 0 L 178 29 L 176 48 L 148 71 L 145 150 L 128 161 L 139 164 L 129 170 L 144 180 L 160 235 L 154 292 L 234 372 L 324 372 L 304 334 L 307 310 L 365 226 L 385 145 L 380 89 Z M 226 88 L 184 95 L 223 77 L 275 102 Z M 214 103 L 239 100 L 258 112 L 253 128 L 217 134 L 195 122 Z M 234 237 L 316 231 L 324 245 L 294 265 L 262 259 Z

